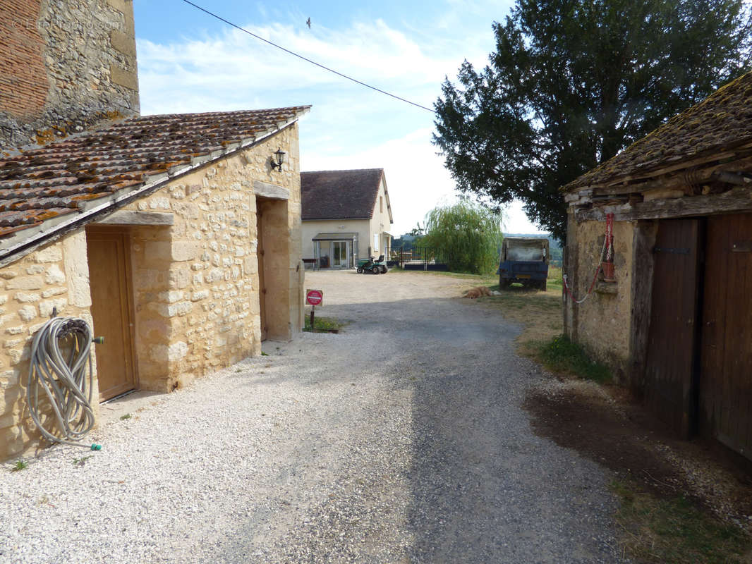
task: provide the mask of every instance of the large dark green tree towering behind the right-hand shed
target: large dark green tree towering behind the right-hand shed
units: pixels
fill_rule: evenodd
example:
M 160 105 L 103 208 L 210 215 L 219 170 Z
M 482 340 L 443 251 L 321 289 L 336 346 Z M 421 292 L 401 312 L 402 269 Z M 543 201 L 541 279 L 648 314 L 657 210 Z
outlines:
M 741 0 L 517 0 L 496 52 L 435 103 L 434 143 L 464 193 L 561 241 L 560 186 L 747 70 Z

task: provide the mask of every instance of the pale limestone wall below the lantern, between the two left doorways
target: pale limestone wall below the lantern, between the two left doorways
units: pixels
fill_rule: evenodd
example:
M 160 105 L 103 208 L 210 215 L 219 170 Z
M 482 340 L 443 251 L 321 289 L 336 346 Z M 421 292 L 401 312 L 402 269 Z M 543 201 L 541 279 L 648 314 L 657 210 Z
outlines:
M 141 389 L 169 391 L 259 354 L 259 263 L 253 180 L 290 190 L 265 216 L 270 338 L 302 328 L 297 126 L 205 165 L 126 209 L 173 214 L 172 226 L 133 226 L 135 350 Z M 288 153 L 283 171 L 269 157 Z

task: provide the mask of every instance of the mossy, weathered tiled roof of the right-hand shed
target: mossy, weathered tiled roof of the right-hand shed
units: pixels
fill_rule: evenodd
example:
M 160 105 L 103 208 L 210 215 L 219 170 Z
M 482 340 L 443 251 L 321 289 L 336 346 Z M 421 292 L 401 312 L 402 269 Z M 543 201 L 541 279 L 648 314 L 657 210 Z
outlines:
M 752 72 L 744 74 L 699 104 L 672 117 L 617 156 L 563 187 L 616 183 L 624 177 L 650 174 L 668 165 L 702 157 L 752 141 Z

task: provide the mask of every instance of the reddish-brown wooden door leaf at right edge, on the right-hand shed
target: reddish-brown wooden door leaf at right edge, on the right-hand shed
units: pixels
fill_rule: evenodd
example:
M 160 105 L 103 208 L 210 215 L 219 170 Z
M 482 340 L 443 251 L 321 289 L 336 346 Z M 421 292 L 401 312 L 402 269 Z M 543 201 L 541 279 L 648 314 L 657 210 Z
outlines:
M 752 214 L 708 219 L 702 430 L 752 458 Z

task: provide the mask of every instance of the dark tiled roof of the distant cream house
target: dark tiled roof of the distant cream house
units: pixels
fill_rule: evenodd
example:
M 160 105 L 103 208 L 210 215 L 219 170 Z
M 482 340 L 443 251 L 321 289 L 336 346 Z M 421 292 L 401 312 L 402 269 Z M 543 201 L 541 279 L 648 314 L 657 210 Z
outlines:
M 384 168 L 300 173 L 303 220 L 370 219 Z

